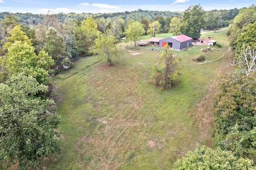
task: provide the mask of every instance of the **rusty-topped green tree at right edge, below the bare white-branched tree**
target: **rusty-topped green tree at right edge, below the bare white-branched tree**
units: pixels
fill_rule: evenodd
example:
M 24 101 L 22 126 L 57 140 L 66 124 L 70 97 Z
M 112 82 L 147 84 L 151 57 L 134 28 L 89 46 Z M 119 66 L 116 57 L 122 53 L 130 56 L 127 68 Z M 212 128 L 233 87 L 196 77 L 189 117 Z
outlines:
M 255 158 L 256 153 L 255 73 L 246 76 L 235 70 L 220 82 L 214 102 L 213 144 L 236 156 Z

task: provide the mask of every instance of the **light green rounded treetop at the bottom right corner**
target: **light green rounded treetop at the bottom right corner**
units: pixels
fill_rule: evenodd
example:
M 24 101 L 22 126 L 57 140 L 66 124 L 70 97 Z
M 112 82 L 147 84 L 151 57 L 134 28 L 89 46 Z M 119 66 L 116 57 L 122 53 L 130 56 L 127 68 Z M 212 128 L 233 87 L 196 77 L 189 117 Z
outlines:
M 197 146 L 174 163 L 174 170 L 255 170 L 253 161 L 234 156 L 230 151 Z

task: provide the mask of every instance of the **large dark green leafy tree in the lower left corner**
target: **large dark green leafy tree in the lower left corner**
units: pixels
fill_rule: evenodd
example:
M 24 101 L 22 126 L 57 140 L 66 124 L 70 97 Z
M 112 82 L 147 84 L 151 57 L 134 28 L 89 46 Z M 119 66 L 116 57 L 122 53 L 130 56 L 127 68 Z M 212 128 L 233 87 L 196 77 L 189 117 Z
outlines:
M 45 85 L 24 74 L 0 84 L 0 168 L 39 166 L 40 158 L 62 150 L 56 131 L 60 117 L 52 100 L 41 99 Z

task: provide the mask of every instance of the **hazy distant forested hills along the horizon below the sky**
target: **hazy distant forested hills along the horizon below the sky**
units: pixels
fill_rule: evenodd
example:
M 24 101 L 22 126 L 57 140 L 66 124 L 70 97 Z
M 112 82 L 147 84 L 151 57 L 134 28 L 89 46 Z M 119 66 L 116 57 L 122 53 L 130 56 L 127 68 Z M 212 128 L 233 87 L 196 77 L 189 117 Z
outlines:
M 10 13 L 10 12 L 0 12 L 0 18 L 4 19 L 6 15 L 15 16 L 24 26 L 37 26 L 44 23 L 44 18 L 47 15 L 53 15 L 58 19 L 60 23 L 68 22 L 68 20 L 86 20 L 89 17 L 92 17 L 94 20 L 97 18 L 104 18 L 106 21 L 114 21 L 119 18 L 123 19 L 125 22 L 129 20 L 140 21 L 142 18 L 148 20 L 158 20 L 162 25 L 162 28 L 168 27 L 170 24 L 170 20 L 174 16 L 178 16 L 181 18 L 183 12 L 170 12 L 170 11 L 151 11 L 151 10 L 141 10 L 138 9 L 132 12 L 116 12 L 116 13 L 99 13 L 99 14 L 91 14 L 91 13 L 82 13 L 76 14 L 74 12 L 64 14 L 51 14 L 49 11 L 48 14 L 31 14 L 31 13 Z M 214 29 L 220 28 L 224 26 L 228 26 L 234 17 L 239 13 L 239 9 L 234 8 L 231 10 L 211 10 L 207 11 L 206 16 L 206 25 L 205 29 Z M 164 32 L 168 32 L 168 30 L 163 30 Z

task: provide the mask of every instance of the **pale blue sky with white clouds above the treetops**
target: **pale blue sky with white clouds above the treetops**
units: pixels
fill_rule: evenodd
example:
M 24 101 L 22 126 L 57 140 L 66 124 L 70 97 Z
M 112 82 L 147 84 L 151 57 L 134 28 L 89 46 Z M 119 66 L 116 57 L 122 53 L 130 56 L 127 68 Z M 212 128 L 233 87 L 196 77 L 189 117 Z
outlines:
M 0 12 L 32 14 L 68 14 L 131 12 L 134 10 L 184 11 L 191 5 L 202 6 L 205 11 L 230 10 L 249 7 L 255 0 L 0 0 Z

